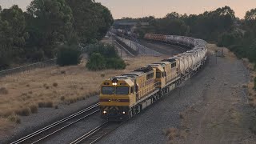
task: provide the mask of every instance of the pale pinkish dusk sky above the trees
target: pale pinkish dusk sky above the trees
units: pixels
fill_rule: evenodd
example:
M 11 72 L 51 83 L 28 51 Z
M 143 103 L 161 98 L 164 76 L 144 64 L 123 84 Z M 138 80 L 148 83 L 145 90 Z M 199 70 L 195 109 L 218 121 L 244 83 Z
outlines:
M 256 8 L 256 0 L 95 0 L 108 7 L 115 19 L 154 16 L 162 18 L 173 11 L 179 14 L 202 14 L 206 10 L 230 6 L 238 18 L 244 18 L 246 11 Z M 17 4 L 26 10 L 31 0 L 0 0 L 2 8 Z

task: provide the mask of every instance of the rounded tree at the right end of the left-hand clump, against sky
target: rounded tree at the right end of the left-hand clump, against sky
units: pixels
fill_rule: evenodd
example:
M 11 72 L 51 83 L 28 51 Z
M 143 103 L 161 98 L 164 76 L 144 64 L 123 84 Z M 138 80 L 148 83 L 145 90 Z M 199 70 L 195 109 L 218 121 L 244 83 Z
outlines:
M 114 22 L 105 6 L 91 0 L 67 0 L 74 14 L 74 29 L 84 44 L 102 39 Z

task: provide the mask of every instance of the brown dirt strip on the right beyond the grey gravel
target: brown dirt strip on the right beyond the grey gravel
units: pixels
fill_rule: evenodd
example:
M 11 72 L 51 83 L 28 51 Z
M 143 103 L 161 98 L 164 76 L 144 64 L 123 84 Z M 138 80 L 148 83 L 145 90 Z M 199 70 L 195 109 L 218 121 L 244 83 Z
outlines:
M 209 54 L 219 49 L 215 45 L 208 48 Z M 224 49 L 224 54 L 225 58 L 210 64 L 212 78 L 206 81 L 202 100 L 180 113 L 178 129 L 168 130 L 170 143 L 256 143 L 256 135 L 250 130 L 256 120 L 248 99 L 251 73 L 238 66 L 238 59 L 229 50 Z M 247 82 L 242 83 L 245 78 Z

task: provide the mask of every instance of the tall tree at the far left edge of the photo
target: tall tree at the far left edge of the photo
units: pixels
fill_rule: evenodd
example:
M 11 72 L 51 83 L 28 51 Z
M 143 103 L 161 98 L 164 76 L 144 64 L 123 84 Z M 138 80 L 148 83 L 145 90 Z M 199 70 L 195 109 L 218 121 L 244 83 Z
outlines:
M 25 17 L 17 5 L 0 13 L 0 66 L 6 68 L 11 61 L 22 57 L 25 41 L 29 34 L 25 30 Z

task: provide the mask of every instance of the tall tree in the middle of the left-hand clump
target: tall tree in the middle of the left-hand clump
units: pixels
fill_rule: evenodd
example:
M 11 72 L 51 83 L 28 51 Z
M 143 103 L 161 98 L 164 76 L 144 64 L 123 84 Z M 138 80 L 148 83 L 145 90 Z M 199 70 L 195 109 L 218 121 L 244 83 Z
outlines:
M 26 19 L 32 36 L 30 47 L 42 49 L 48 58 L 54 57 L 58 44 L 75 42 L 74 18 L 66 0 L 34 0 L 27 8 Z

